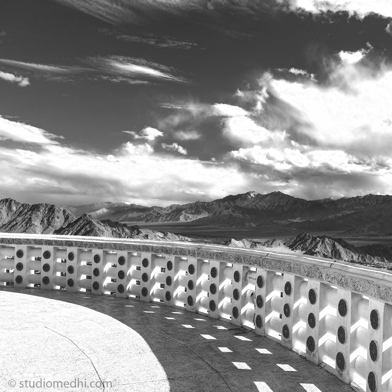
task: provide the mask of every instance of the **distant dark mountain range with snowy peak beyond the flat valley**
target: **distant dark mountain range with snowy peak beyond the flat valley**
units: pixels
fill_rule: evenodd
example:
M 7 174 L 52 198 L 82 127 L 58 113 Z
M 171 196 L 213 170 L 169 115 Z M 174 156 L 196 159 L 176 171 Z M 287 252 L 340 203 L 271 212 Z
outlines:
M 247 192 L 213 201 L 146 207 L 127 203 L 94 203 L 66 207 L 76 216 L 129 223 L 182 223 L 218 227 L 261 227 L 269 231 L 346 231 L 391 233 L 392 196 L 366 195 L 334 200 L 305 200 L 272 192 Z

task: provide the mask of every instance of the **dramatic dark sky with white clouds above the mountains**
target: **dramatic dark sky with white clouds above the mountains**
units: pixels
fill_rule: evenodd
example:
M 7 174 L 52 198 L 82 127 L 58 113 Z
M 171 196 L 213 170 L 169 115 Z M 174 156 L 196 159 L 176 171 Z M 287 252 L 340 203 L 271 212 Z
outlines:
M 391 0 L 1 0 L 0 198 L 392 194 Z

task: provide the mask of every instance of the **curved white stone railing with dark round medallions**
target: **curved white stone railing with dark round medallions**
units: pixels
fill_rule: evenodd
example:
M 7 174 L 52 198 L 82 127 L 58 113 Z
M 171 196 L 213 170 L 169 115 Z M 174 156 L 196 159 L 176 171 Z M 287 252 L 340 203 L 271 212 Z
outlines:
M 365 391 L 392 391 L 392 274 L 180 242 L 0 233 L 0 285 L 160 302 L 254 330 Z

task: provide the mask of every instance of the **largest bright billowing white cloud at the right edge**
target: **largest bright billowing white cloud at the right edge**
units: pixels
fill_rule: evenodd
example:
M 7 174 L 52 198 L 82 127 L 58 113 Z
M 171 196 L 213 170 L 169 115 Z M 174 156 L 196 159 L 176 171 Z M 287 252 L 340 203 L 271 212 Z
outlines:
M 336 66 L 327 85 L 273 79 L 269 89 L 285 104 L 297 135 L 321 146 L 363 152 L 392 143 L 392 67 Z M 268 105 L 274 105 L 269 102 Z

